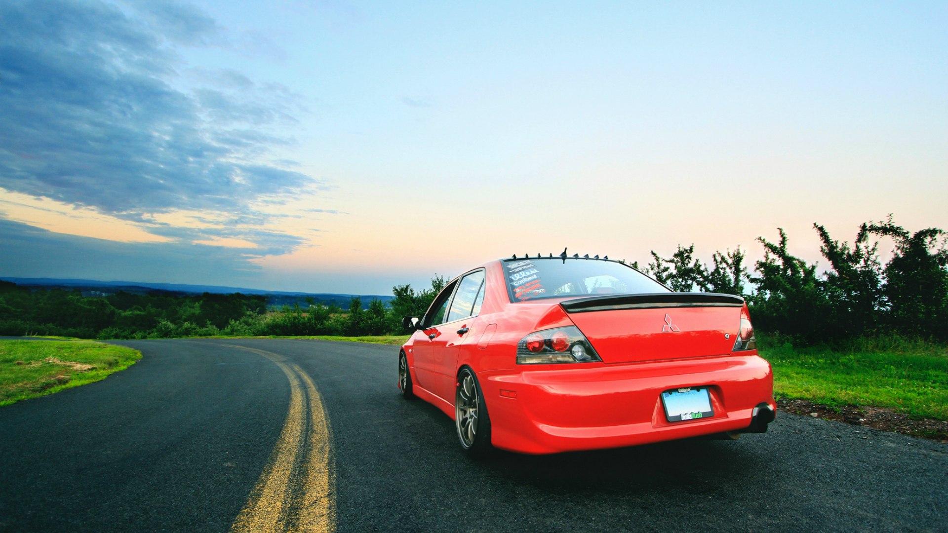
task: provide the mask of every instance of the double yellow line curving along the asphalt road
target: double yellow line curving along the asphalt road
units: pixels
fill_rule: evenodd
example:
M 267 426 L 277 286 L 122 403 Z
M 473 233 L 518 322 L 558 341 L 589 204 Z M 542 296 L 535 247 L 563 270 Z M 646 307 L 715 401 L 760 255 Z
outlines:
M 230 526 L 232 533 L 335 531 L 332 431 L 313 380 L 283 356 L 223 344 L 273 361 L 290 381 L 290 407 L 264 472 Z

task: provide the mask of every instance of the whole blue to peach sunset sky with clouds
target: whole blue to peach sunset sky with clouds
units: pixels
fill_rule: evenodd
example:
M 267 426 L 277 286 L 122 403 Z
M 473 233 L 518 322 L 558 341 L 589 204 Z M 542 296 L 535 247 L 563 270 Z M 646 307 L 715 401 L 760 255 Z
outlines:
M 5 0 L 0 110 L 7 277 L 391 294 L 948 229 L 944 2 Z

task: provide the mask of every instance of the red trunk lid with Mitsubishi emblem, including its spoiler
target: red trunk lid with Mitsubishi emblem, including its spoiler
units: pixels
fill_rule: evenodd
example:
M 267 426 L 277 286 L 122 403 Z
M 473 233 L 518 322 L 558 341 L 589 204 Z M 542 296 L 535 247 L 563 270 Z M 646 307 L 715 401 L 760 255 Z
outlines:
M 731 353 L 744 299 L 667 292 L 561 302 L 605 363 L 703 358 Z

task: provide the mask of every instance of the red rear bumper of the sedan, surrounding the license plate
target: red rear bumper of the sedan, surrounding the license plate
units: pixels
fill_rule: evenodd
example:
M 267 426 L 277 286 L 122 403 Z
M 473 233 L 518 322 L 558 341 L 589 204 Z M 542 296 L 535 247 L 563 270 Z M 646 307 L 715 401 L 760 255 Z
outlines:
M 478 375 L 494 446 L 555 453 L 719 432 L 762 432 L 773 420 L 774 376 L 757 355 L 629 364 L 520 366 Z M 661 395 L 707 386 L 714 414 L 668 422 Z

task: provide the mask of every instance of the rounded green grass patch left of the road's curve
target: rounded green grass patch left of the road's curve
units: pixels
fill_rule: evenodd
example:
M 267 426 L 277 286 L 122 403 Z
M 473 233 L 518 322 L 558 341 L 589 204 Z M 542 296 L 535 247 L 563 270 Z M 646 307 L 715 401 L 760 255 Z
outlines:
M 139 358 L 91 340 L 0 340 L 0 406 L 99 381 Z

